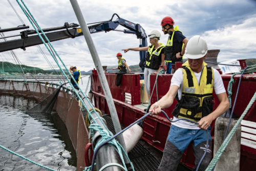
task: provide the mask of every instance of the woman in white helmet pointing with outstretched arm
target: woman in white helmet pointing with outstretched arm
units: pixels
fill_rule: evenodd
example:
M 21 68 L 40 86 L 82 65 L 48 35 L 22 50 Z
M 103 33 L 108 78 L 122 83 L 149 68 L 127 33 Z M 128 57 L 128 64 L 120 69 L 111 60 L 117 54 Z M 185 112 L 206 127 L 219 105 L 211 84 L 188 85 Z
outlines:
M 150 75 L 157 74 L 164 65 L 164 48 L 165 46 L 158 42 L 161 37 L 159 31 L 154 30 L 148 35 L 150 37 L 150 44 L 151 46 L 147 47 L 137 47 L 137 48 L 128 48 L 123 49 L 124 53 L 128 51 L 147 51 L 146 58 L 145 58 L 145 70 L 144 70 L 144 83 L 146 87 L 146 93 L 148 99 L 150 99 Z M 148 111 L 150 106 L 144 111 Z

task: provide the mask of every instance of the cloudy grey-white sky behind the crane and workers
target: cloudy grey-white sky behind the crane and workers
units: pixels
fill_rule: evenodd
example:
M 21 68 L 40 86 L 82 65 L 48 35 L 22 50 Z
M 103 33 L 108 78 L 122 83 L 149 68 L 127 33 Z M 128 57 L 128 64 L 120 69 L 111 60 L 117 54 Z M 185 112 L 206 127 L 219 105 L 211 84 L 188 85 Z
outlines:
M 15 0 L 1 0 L 0 27 L 6 29 L 23 24 L 9 2 L 22 21 L 30 26 L 30 29 L 33 29 Z M 63 26 L 66 22 L 78 24 L 68 0 L 24 0 L 24 2 L 41 28 Z M 201 35 L 207 41 L 208 49 L 220 49 L 219 62 L 237 58 L 256 58 L 255 0 L 162 0 L 159 3 L 144 0 L 79 0 L 78 4 L 87 23 L 109 20 L 114 13 L 117 13 L 123 19 L 140 24 L 149 34 L 152 30 L 161 32 L 161 19 L 165 16 L 171 16 L 175 20 L 175 26 L 178 25 L 188 39 L 194 35 Z M 123 30 L 125 28 L 118 26 L 117 29 Z M 4 34 L 8 36 L 19 32 L 5 32 Z M 166 44 L 167 35 L 163 35 L 162 32 L 161 34 L 160 42 Z M 102 66 L 117 65 L 117 52 L 126 48 L 138 47 L 140 43 L 136 35 L 117 31 L 100 32 L 91 34 L 91 36 Z M 8 38 L 8 40 L 10 39 Z M 0 41 L 3 41 L 3 39 L 0 39 Z M 148 39 L 147 42 L 149 44 Z M 83 71 L 94 68 L 92 57 L 83 36 L 55 41 L 52 42 L 52 45 L 68 67 L 75 65 Z M 44 50 L 51 65 L 56 67 L 45 46 L 40 45 L 40 47 Z M 46 57 L 40 53 L 36 46 L 29 47 L 26 51 L 16 49 L 14 52 L 24 65 L 50 69 Z M 128 65 L 139 63 L 138 52 L 129 51 L 123 54 L 123 57 Z M 0 59 L 14 62 L 10 52 L 0 53 Z

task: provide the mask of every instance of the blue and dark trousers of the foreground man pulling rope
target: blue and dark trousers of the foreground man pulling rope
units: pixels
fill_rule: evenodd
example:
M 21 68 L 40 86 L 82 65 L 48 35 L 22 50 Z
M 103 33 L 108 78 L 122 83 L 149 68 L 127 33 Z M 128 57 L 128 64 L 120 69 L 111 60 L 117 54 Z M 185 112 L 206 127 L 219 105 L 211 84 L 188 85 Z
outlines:
M 207 132 L 209 135 L 209 142 L 207 147 L 207 153 L 199 167 L 200 171 L 205 170 L 211 160 L 212 143 L 210 136 L 210 127 L 208 128 Z M 172 125 L 170 127 L 168 138 L 166 140 L 163 157 L 158 167 L 158 171 L 176 171 L 182 154 L 190 143 L 192 145 L 194 156 L 196 158 L 195 167 L 193 168 L 193 170 L 196 170 L 197 165 L 205 152 L 206 141 L 207 133 L 205 130 L 189 130 Z

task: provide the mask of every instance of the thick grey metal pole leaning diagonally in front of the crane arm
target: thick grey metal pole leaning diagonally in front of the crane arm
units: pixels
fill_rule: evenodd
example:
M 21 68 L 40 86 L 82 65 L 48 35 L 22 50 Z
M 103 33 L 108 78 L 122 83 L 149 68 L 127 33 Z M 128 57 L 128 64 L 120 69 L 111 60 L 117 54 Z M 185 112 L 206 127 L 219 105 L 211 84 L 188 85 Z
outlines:
M 101 62 L 99 60 L 98 53 L 97 53 L 96 48 L 93 44 L 91 33 L 90 33 L 90 31 L 87 27 L 86 21 L 83 18 L 81 9 L 80 9 L 77 1 L 76 0 L 70 0 L 70 3 L 71 3 L 71 5 L 74 9 L 74 12 L 76 14 L 76 17 L 78 19 L 78 22 L 79 22 L 79 24 L 81 26 L 81 29 L 82 29 L 82 32 L 83 32 L 83 36 L 86 39 L 87 45 L 88 45 L 90 53 L 92 55 L 93 62 L 94 62 L 95 68 L 97 69 L 97 72 L 98 72 L 98 75 L 99 75 L 99 80 L 100 80 L 100 83 L 102 85 L 103 92 L 104 92 L 104 95 L 105 95 L 105 98 L 106 98 L 106 102 L 108 103 L 108 106 L 109 106 L 109 109 L 110 109 L 110 114 L 111 114 L 111 118 L 112 118 L 112 121 L 113 121 L 113 124 L 114 124 L 114 127 L 115 127 L 115 131 L 116 131 L 116 133 L 118 133 L 118 132 L 121 131 L 120 122 L 119 122 L 119 119 L 118 119 L 118 116 L 117 116 L 115 104 L 114 104 L 114 101 L 113 101 L 113 98 L 112 98 L 112 95 L 111 95 L 111 92 L 110 92 L 108 81 L 106 80 L 103 68 L 101 66 Z M 124 143 L 123 135 L 120 134 L 117 138 L 118 138 L 119 143 L 122 145 L 122 147 L 124 148 L 124 150 L 126 152 L 126 146 L 125 146 L 125 143 Z M 124 159 L 126 159 L 126 157 L 124 157 Z M 125 163 L 127 163 L 127 162 L 125 161 Z

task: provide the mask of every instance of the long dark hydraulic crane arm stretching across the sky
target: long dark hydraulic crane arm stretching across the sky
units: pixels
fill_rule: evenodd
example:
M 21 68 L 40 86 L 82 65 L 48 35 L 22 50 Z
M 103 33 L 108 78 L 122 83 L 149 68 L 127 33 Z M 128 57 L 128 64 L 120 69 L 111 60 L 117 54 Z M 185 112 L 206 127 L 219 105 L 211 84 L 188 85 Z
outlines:
M 113 17 L 115 15 L 117 16 L 117 19 L 113 21 Z M 92 34 L 92 33 L 98 33 L 102 31 L 105 31 L 105 32 L 109 32 L 112 30 L 120 31 L 120 30 L 116 30 L 118 25 L 121 25 L 126 29 L 128 29 L 128 30 L 123 30 L 122 32 L 135 34 L 137 38 L 141 39 L 139 47 L 147 46 L 147 41 L 146 41 L 147 36 L 146 36 L 145 30 L 139 24 L 135 24 L 135 23 L 129 22 L 126 19 L 120 18 L 117 14 L 113 14 L 112 18 L 108 21 L 98 22 L 95 25 L 88 26 L 88 28 L 90 30 L 90 33 Z M 65 25 L 61 27 L 54 27 L 54 28 L 48 28 L 48 29 L 42 29 L 42 30 L 45 32 L 46 36 L 50 41 L 57 41 L 65 38 L 75 38 L 77 36 L 81 36 L 82 32 L 80 28 L 77 28 L 78 26 L 79 25 L 77 24 L 65 23 Z M 15 28 L 0 29 L 0 33 L 6 32 L 6 31 L 12 31 L 12 30 L 20 30 L 25 28 L 27 28 L 27 26 L 24 28 L 17 27 L 16 29 Z M 20 36 L 21 38 L 0 42 L 0 52 L 9 51 L 9 50 L 18 49 L 18 48 L 26 50 L 26 47 L 42 44 L 42 41 L 39 38 L 39 36 L 36 34 L 35 30 L 25 30 L 20 32 L 19 35 L 15 35 L 15 36 Z M 7 36 L 7 37 L 13 37 L 13 36 Z M 2 36 L 0 37 L 0 39 L 7 38 L 7 37 Z M 140 62 L 143 61 L 145 56 L 146 56 L 146 53 L 144 51 L 140 52 Z M 143 66 L 141 66 L 141 68 L 142 70 L 144 70 Z

